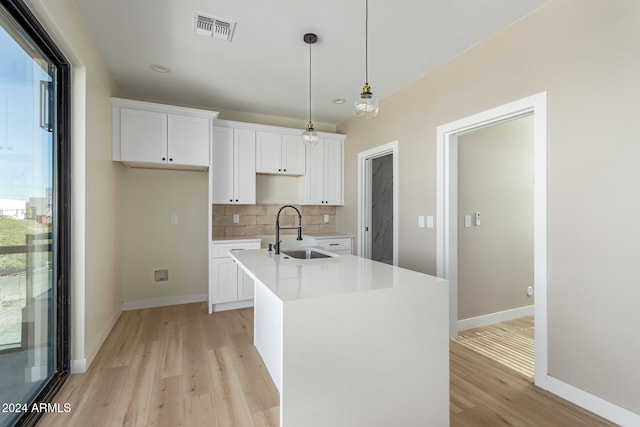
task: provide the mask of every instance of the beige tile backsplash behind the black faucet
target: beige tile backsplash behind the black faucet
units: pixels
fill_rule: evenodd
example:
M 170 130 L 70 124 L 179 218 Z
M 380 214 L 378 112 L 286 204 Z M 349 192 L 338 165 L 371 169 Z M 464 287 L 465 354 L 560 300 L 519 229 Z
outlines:
M 299 206 L 302 213 L 302 233 L 322 234 L 336 232 L 335 206 Z M 276 214 L 282 205 L 212 205 L 213 239 L 224 237 L 254 237 L 275 234 Z M 238 215 L 239 221 L 233 222 Z M 329 215 L 329 222 L 324 216 Z M 280 226 L 298 225 L 295 210 L 287 208 L 280 214 Z M 281 230 L 281 234 L 295 234 L 296 230 Z

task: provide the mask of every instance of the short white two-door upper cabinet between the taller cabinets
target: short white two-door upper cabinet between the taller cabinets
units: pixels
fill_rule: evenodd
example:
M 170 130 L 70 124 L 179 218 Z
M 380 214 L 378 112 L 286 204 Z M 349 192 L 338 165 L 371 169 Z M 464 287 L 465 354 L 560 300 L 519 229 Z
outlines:
M 304 175 L 305 150 L 300 135 L 256 132 L 256 172 Z

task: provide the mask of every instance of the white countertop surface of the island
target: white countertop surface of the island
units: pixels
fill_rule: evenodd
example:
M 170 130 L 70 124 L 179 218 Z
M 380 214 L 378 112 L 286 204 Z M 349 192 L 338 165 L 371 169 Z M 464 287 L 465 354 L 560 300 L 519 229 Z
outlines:
M 282 301 L 416 286 L 447 281 L 354 255 L 302 260 L 265 249 L 229 251 L 254 280 Z

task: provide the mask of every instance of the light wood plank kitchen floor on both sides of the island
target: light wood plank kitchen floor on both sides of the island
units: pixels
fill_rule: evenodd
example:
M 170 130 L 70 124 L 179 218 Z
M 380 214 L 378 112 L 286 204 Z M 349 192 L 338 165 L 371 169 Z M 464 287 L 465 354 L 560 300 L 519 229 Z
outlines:
M 90 369 L 58 394 L 71 411 L 39 426 L 277 426 L 278 391 L 252 337 L 252 309 L 124 312 Z M 455 341 L 450 355 L 451 426 L 613 425 Z

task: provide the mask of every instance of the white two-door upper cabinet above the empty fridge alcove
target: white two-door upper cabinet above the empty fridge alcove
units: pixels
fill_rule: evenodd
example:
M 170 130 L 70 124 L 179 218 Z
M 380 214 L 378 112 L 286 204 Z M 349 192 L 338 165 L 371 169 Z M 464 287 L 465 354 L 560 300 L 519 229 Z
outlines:
M 113 98 L 113 160 L 131 167 L 207 170 L 215 111 Z

